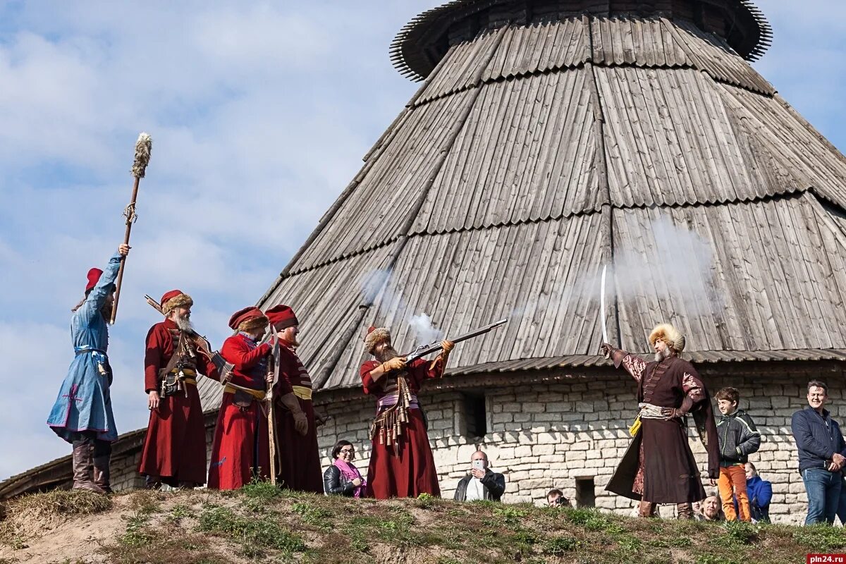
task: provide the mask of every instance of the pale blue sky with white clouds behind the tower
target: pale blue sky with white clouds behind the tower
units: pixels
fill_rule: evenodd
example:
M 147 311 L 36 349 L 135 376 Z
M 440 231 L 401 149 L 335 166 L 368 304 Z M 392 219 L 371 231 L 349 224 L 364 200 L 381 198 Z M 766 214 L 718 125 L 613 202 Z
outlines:
M 85 273 L 124 235 L 152 135 L 109 357 L 118 431 L 146 425 L 143 299 L 180 288 L 219 347 L 418 88 L 396 32 L 437 0 L 0 3 L 0 479 L 69 454 L 45 421 Z M 846 149 L 846 3 L 757 0 L 755 63 Z

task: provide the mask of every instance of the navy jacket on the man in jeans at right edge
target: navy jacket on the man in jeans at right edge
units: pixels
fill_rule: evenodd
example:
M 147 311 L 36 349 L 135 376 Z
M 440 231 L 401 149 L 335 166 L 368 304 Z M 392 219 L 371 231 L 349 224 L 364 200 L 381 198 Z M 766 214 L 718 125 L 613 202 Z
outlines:
M 801 409 L 794 413 L 790 427 L 799 449 L 799 472 L 808 468 L 827 469 L 827 461 L 835 452 L 846 457 L 840 425 L 827 409 L 822 410 L 822 415 L 810 406 Z

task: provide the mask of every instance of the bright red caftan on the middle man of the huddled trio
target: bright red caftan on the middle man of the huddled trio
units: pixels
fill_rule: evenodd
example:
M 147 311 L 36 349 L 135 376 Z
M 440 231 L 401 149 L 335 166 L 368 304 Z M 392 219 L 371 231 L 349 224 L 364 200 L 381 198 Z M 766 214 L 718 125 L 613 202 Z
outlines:
M 258 345 L 246 333 L 239 332 L 223 342 L 220 354 L 235 365 L 230 378 L 233 384 L 263 392 L 270 351 L 269 344 Z M 262 479 L 269 475 L 267 416 L 261 401 L 253 398 L 249 408 L 239 408 L 233 403 L 234 397 L 232 392 L 223 392 L 217 413 L 208 482 L 213 490 L 237 490 L 249 484 L 253 468 Z

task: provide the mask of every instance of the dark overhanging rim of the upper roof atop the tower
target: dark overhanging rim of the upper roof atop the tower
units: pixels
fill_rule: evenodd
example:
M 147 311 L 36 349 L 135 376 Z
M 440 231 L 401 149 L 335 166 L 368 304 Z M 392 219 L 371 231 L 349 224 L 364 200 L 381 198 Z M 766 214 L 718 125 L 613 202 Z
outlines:
M 450 47 L 504 25 L 538 25 L 574 15 L 655 17 L 688 22 L 756 61 L 770 47 L 772 27 L 750 0 L 452 0 L 409 21 L 391 44 L 399 72 L 425 79 Z

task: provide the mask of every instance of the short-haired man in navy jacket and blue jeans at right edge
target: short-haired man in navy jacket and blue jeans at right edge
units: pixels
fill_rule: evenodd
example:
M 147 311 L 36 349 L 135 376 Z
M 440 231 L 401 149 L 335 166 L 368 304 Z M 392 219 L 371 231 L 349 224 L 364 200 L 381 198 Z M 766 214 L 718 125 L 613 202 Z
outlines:
M 840 426 L 828 410 L 828 386 L 818 380 L 808 382 L 808 407 L 793 415 L 796 447 L 799 449 L 799 474 L 808 494 L 805 524 L 834 523 L 840 499 L 840 471 L 846 464 L 846 443 Z

